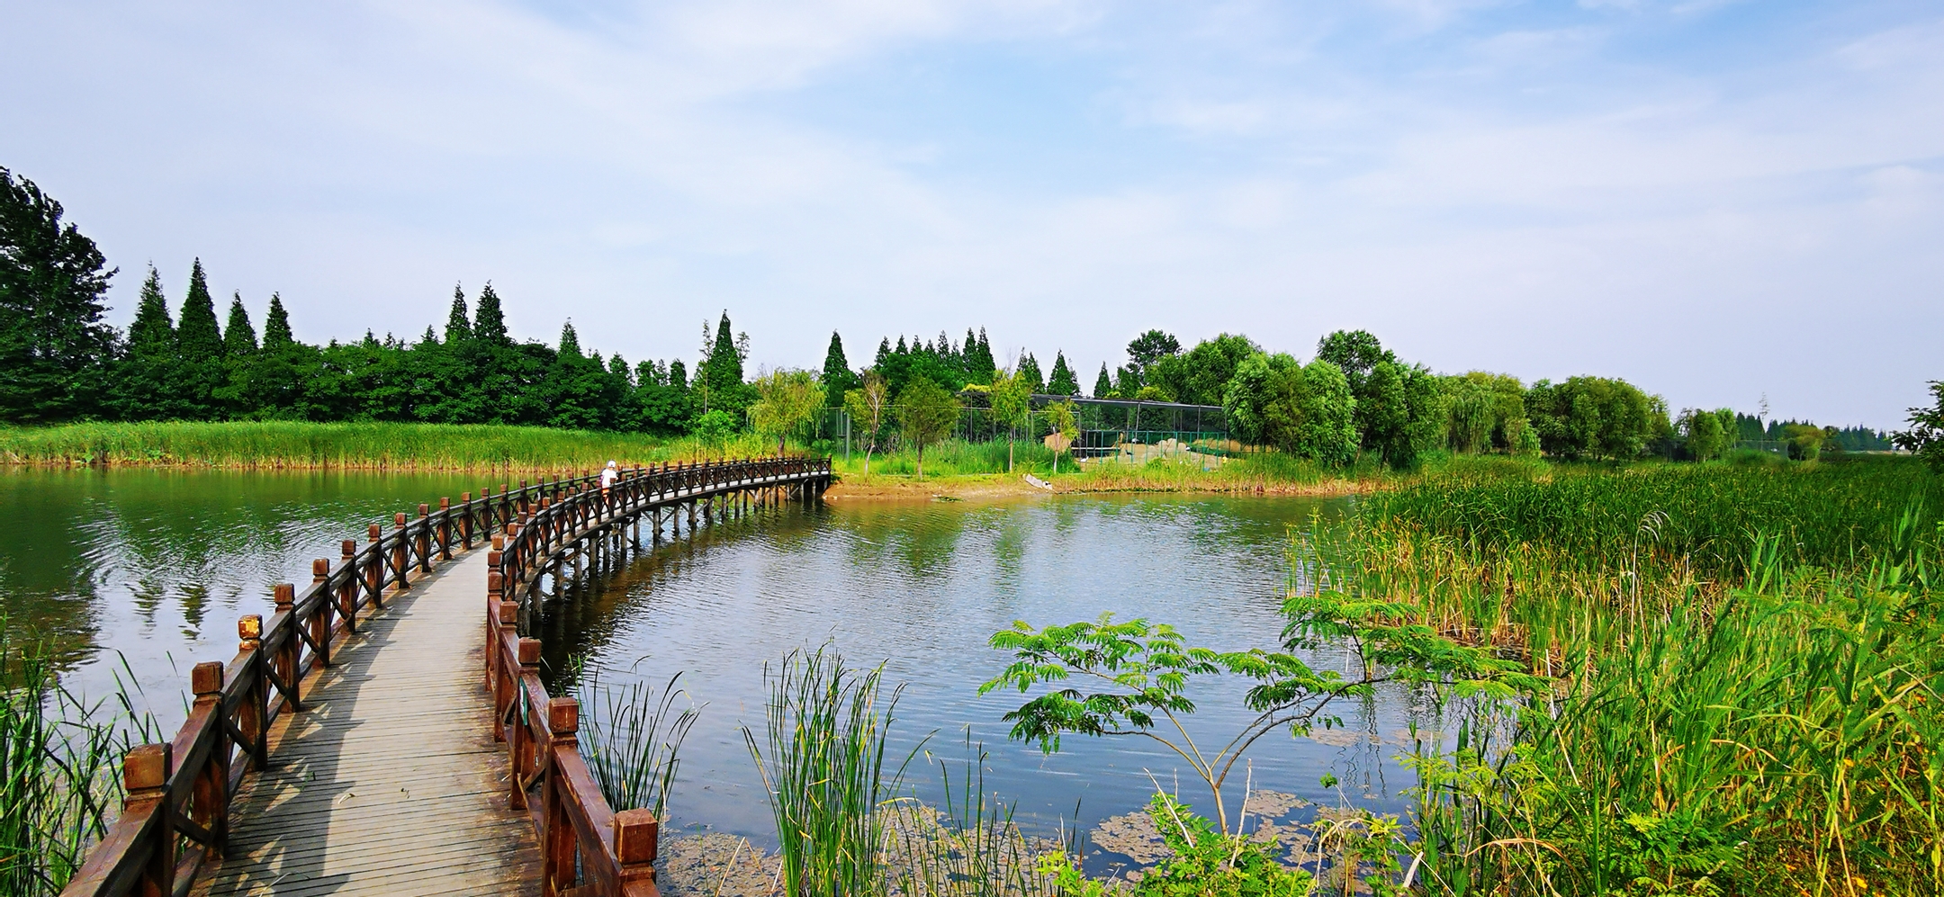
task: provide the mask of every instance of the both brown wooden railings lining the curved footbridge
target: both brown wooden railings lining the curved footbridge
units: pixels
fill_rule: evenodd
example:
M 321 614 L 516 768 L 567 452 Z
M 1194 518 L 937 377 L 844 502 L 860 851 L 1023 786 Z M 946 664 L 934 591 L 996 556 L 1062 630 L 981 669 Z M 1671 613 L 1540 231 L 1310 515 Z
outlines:
M 251 771 L 268 769 L 270 724 L 303 711 L 303 683 L 330 666 L 330 648 L 385 600 L 410 590 L 455 551 L 492 538 L 488 598 L 488 683 L 500 709 L 496 730 L 513 738 L 515 806 L 542 788 L 535 823 L 546 856 L 548 897 L 585 880 L 579 893 L 653 893 L 655 825 L 651 814 L 614 814 L 593 786 L 575 742 L 579 707 L 552 699 L 540 685 L 538 643 L 511 631 L 517 602 L 507 582 L 537 577 L 575 542 L 645 511 L 715 495 L 797 485 L 828 485 L 828 460 L 768 458 L 710 464 L 663 464 L 622 472 L 605 495 L 597 474 L 556 478 L 500 493 L 465 493 L 459 505 L 439 499 L 418 516 L 397 515 L 391 530 L 371 524 L 364 548 L 344 540 L 342 557 L 311 563 L 301 592 L 278 584 L 276 612 L 264 621 L 237 621 L 235 658 L 191 672 L 194 703 L 173 742 L 144 744 L 122 759 L 126 798 L 109 833 L 62 889 L 62 897 L 183 895 L 196 872 L 224 854 L 229 800 Z M 513 614 L 507 614 L 507 612 Z M 519 670 L 517 676 L 513 670 Z M 535 713 L 544 707 L 544 718 Z M 575 862 L 577 860 L 577 862 Z M 562 866 L 564 864 L 564 866 Z M 575 878 L 577 876 L 577 878 Z M 566 887 L 558 881 L 570 881 Z M 642 883 L 647 887 L 643 889 Z

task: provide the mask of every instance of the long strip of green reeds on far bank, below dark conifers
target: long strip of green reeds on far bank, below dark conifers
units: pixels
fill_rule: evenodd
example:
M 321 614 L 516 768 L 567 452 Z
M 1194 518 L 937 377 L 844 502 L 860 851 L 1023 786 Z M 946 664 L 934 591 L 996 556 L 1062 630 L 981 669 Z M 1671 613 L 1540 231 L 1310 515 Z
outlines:
M 165 421 L 0 427 L 10 464 L 185 464 L 212 468 L 591 470 L 626 464 L 772 454 L 754 435 L 692 437 L 455 423 Z

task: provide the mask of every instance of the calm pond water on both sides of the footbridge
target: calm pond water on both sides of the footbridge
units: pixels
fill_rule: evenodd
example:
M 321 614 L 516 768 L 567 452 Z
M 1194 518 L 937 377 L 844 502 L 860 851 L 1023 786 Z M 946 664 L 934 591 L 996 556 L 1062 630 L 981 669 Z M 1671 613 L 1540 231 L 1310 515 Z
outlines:
M 183 716 L 189 668 L 235 652 L 235 619 L 270 612 L 270 584 L 305 582 L 338 540 L 476 476 L 241 474 L 175 470 L 0 470 L 0 610 L 49 635 L 66 681 L 91 695 L 126 664 L 165 730 Z M 498 483 L 494 483 L 498 487 Z M 702 707 L 671 802 L 680 827 L 774 845 L 745 724 L 762 728 L 762 664 L 832 645 L 853 664 L 885 662 L 902 683 L 900 755 L 931 736 L 962 763 L 984 742 L 986 788 L 1048 827 L 1137 810 L 1153 784 L 1205 804 L 1205 788 L 1164 748 L 1137 738 L 1067 738 L 1061 753 L 1007 742 L 1017 693 L 978 697 L 1005 662 L 988 647 L 1015 619 L 1034 625 L 1147 617 L 1194 645 L 1273 648 L 1293 528 L 1341 515 L 1341 501 L 1219 497 L 1034 497 L 1015 501 L 830 501 L 764 513 L 638 555 L 626 569 L 548 608 L 548 670 L 570 660 L 626 681 L 677 672 Z M 467 635 L 470 637 L 470 635 Z M 1324 652 L 1316 664 L 1343 664 Z M 1192 732 L 1225 742 L 1252 714 L 1240 681 L 1196 689 Z M 1254 786 L 1314 802 L 1400 810 L 1411 784 L 1394 759 L 1407 695 L 1334 713 L 1357 734 L 1266 736 L 1250 749 Z M 1328 742 L 1328 744 L 1326 744 Z M 1324 788 L 1334 773 L 1343 784 Z M 912 777 L 935 790 L 937 767 Z M 1244 773 L 1232 781 L 1231 808 Z

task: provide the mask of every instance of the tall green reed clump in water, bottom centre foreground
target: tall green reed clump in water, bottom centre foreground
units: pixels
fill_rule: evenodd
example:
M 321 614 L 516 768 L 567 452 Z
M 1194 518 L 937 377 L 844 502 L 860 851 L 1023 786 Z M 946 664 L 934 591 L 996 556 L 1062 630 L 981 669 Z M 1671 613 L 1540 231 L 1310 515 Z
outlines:
M 791 897 L 885 895 L 881 858 L 890 810 L 918 748 L 886 767 L 896 687 L 883 693 L 883 672 L 851 670 L 832 648 L 791 650 L 780 666 L 764 664 L 770 689 L 766 738 L 743 738 L 756 761 L 776 839 L 783 856 L 783 893 Z

